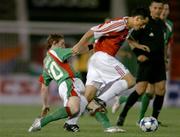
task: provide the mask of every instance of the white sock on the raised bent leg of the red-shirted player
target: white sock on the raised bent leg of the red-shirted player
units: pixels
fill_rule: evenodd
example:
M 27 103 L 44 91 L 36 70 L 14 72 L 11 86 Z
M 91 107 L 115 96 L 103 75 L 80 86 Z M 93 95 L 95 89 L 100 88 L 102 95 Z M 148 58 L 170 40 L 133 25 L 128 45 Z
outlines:
M 110 99 L 114 98 L 117 95 L 120 95 L 122 91 L 128 89 L 128 83 L 126 80 L 117 80 L 115 81 L 110 88 L 108 88 L 102 95 L 98 98 L 103 100 L 104 102 L 109 101 Z

